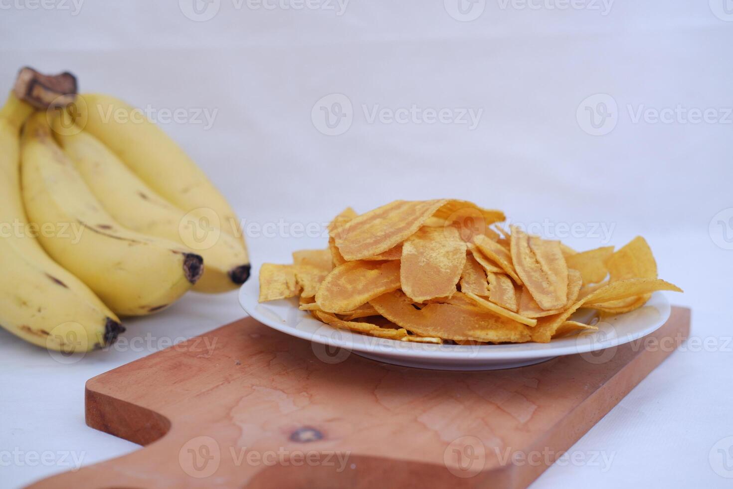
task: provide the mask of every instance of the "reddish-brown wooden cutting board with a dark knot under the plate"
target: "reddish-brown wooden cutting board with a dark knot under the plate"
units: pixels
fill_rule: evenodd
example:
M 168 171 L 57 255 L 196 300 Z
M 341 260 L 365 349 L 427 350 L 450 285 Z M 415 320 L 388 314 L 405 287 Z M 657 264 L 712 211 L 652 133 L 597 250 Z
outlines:
M 89 380 L 86 423 L 145 447 L 32 487 L 525 488 L 689 328 L 674 307 L 616 350 L 438 372 L 326 363 L 245 318 Z

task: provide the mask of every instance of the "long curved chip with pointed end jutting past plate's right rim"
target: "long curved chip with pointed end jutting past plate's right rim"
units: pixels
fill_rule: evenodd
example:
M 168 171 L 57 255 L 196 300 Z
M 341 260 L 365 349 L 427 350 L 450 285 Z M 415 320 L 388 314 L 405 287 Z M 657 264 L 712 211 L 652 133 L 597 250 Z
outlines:
M 682 292 L 677 285 L 670 284 L 660 279 L 626 279 L 601 287 L 595 292 L 587 295 L 575 304 L 570 306 L 559 315 L 542 317 L 537 321 L 537 326 L 532 329 L 532 340 L 538 343 L 547 343 L 555 334 L 557 328 L 564 323 L 573 312 L 577 311 L 581 306 L 592 307 L 593 303 L 603 303 L 606 301 L 615 301 L 617 299 L 633 297 L 635 295 L 644 295 L 655 292 L 656 290 L 673 290 Z M 643 304 L 642 304 L 643 305 Z

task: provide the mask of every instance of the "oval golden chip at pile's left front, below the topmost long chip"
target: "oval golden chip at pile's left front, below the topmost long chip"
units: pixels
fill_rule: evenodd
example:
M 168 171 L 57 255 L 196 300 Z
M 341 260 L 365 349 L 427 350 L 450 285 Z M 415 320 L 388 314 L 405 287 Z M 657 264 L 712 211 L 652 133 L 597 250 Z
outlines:
M 325 312 L 352 311 L 372 298 L 399 289 L 399 261 L 345 262 L 321 282 L 316 302 Z

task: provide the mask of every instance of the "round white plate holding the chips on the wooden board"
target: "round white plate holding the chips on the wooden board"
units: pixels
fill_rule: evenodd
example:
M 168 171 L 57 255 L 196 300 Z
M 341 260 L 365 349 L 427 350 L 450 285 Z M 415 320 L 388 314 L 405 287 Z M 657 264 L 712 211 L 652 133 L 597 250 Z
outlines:
M 598 331 L 573 337 L 553 339 L 549 343 L 517 343 L 514 345 L 430 345 L 399 342 L 394 339 L 369 337 L 339 330 L 315 320 L 298 309 L 298 299 L 259 304 L 259 279 L 256 275 L 242 286 L 239 301 L 244 310 L 270 328 L 311 342 L 316 356 L 328 363 L 344 361 L 351 352 L 388 364 L 438 370 L 490 370 L 523 367 L 556 356 L 582 354 L 592 363 L 605 361 L 605 353 L 592 353 L 614 348 L 656 331 L 666 323 L 670 306 L 663 293 L 656 292 L 644 307 L 617 315 L 599 323 Z M 589 312 L 579 311 L 573 317 L 582 320 Z

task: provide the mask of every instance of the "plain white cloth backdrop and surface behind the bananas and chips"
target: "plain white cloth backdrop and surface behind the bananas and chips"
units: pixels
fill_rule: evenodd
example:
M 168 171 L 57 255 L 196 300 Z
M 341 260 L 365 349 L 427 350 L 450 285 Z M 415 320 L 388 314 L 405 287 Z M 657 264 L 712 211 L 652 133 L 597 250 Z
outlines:
M 733 436 L 732 1 L 465 0 L 462 16 L 455 0 L 351 0 L 345 10 L 343 0 L 300 10 L 215 0 L 208 21 L 191 0 L 45 1 L 0 0 L 5 89 L 31 65 L 71 70 L 83 91 L 185 109 L 187 121 L 161 120 L 165 130 L 245 224 L 282 223 L 249 228 L 256 267 L 325 245 L 298 224 L 393 199 L 450 196 L 522 223 L 576 224 L 579 235 L 548 230 L 578 249 L 646 236 L 660 276 L 685 289 L 671 300 L 693 308 L 693 335 L 708 346 L 674 353 L 573 446 L 613 454 L 610 468 L 556 464 L 533 487 L 733 482 L 723 477 L 724 463 L 733 468 L 733 438 L 723 439 Z M 317 101 L 331 94 L 351 104 L 338 136 L 319 130 L 320 106 L 336 99 Z M 611 117 L 592 135 L 599 102 Z M 476 128 L 368 117 L 413 105 L 482 113 Z M 216 111 L 213 125 L 196 123 L 194 109 Z M 692 123 L 682 109 L 712 111 Z M 84 382 L 242 315 L 235 293 L 191 293 L 128 321 L 127 347 L 71 365 L 0 331 L 0 454 L 73 452 L 86 465 L 136 449 L 84 425 Z M 5 457 L 3 487 L 69 468 Z

